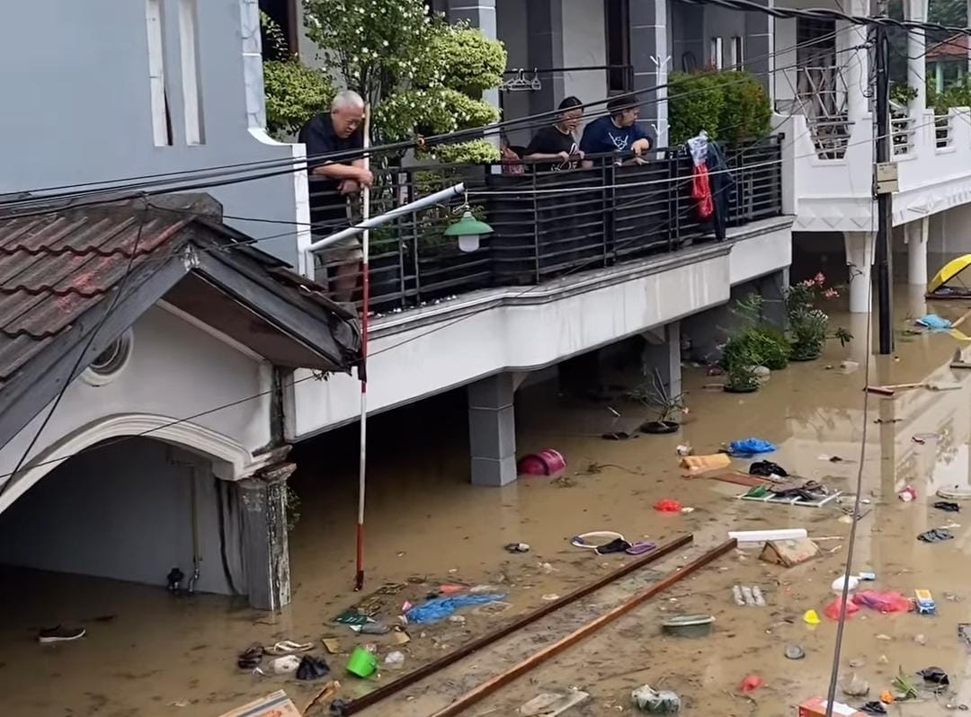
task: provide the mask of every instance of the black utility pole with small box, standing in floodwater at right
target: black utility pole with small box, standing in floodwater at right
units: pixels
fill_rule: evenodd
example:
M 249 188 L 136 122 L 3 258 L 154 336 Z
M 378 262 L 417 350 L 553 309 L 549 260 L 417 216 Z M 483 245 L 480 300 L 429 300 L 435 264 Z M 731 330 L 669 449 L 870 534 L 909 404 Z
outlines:
M 880 3 L 880 15 L 887 16 L 887 2 Z M 891 162 L 889 43 L 887 28 L 877 25 L 876 32 L 877 92 L 877 163 L 873 168 L 873 191 L 877 200 L 877 310 L 880 353 L 893 351 L 893 304 L 890 298 L 890 234 L 893 227 L 892 192 L 897 191 L 897 165 Z

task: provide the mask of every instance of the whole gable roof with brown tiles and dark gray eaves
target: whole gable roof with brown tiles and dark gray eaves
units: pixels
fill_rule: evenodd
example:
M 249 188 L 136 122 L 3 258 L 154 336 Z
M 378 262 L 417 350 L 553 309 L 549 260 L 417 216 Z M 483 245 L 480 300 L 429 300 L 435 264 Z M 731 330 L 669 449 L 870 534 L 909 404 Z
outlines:
M 162 299 L 277 366 L 359 360 L 356 317 L 323 287 L 220 224 L 211 198 L 164 202 L 0 215 L 0 445 Z

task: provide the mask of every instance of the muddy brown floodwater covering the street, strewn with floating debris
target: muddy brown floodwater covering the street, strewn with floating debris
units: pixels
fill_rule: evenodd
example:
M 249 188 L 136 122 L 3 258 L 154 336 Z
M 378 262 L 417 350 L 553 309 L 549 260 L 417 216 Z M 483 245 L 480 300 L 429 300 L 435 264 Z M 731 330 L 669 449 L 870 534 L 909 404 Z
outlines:
M 898 329 L 906 325 L 907 315 L 920 315 L 924 309 L 919 298 L 905 294 L 898 296 L 897 305 Z M 936 309 L 952 318 L 963 310 Z M 502 489 L 468 485 L 460 395 L 375 419 L 371 435 L 378 438 L 369 484 L 365 595 L 385 583 L 407 584 L 375 603 L 388 620 L 398 614 L 402 601 L 420 601 L 443 583 L 494 585 L 510 603 L 498 613 L 464 610 L 464 622 L 412 626 L 412 640 L 404 646 L 392 644 L 389 636 L 356 637 L 350 629 L 330 624 L 337 613 L 364 597 L 350 590 L 356 481 L 352 431 L 303 446 L 298 454 L 301 471 L 294 484 L 301 498 L 301 518 L 290 537 L 294 597 L 280 614 L 254 612 L 216 596 L 180 600 L 163 590 L 109 580 L 4 570 L 3 713 L 214 717 L 281 688 L 302 707 L 317 688 L 292 678 L 238 670 L 236 654 L 252 642 L 292 638 L 319 645 L 320 637 L 336 636 L 344 653 L 354 644 L 372 642 L 382 658 L 399 649 L 406 656 L 404 669 L 417 668 L 543 604 L 544 596 L 564 595 L 630 560 L 573 548 L 570 536 L 613 530 L 630 540 L 663 541 L 694 534 L 690 549 L 557 616 L 545 631 L 550 635 L 527 636 L 535 650 L 544 639 L 555 637 L 557 629 L 569 632 L 684 564 L 686 556 L 721 542 L 728 530 L 805 527 L 814 537 L 836 537 L 820 540 L 826 551 L 820 559 L 784 569 L 759 561 L 757 549 L 733 551 L 466 713 L 514 714 L 519 704 L 540 692 L 571 686 L 589 692 L 591 700 L 568 715 L 631 713 L 635 710 L 630 691 L 648 683 L 679 693 L 684 714 L 795 715 L 799 701 L 826 690 L 835 624 L 823 618 L 812 628 L 802 615 L 810 608 L 821 613 L 832 600 L 830 583 L 846 559 L 850 526 L 840 519 L 843 513 L 835 504 L 756 505 L 736 500 L 744 490 L 739 486 L 683 477 L 675 448 L 687 442 L 696 453 L 708 453 L 722 441 L 752 436 L 771 440 L 779 445 L 771 460 L 852 493 L 864 426 L 863 369 L 843 375 L 826 366 L 836 366 L 844 358 L 863 361 L 865 327 L 859 318 L 845 314 L 835 315 L 834 322 L 851 328 L 857 341 L 846 348 L 829 345 L 819 361 L 773 374 L 752 395 L 705 390 L 703 385 L 711 379 L 701 369 L 686 368 L 690 420 L 672 436 L 601 440 L 605 431 L 631 430 L 648 416 L 647 409 L 618 400 L 610 403 L 620 413 L 618 418 L 607 404 L 557 396 L 555 384 L 524 390 L 517 401 L 519 452 L 547 446 L 560 450 L 569 468 L 557 480 L 523 478 Z M 893 399 L 870 400 L 862 465 L 862 495 L 869 501 L 869 512 L 859 523 L 854 571 L 876 572 L 875 589 L 908 596 L 916 588 L 930 590 L 938 614 L 860 611 L 848 623 L 841 671 L 865 679 L 869 699 L 890 688 L 898 669 L 913 674 L 938 666 L 951 676 L 944 695 L 928 694 L 920 703 L 894 705 L 891 714 L 932 717 L 949 714 L 960 704 L 971 705 L 971 661 L 967 645 L 956 635 L 958 623 L 971 622 L 969 518 L 964 512 L 932 507 L 938 488 L 968 487 L 971 479 L 971 372 L 953 373 L 948 368 L 957 345 L 947 334 L 898 333 L 895 358 L 871 362 L 871 383 L 956 379 L 962 384 L 959 391 L 918 389 Z M 971 359 L 971 349 L 968 355 Z M 615 375 L 608 380 L 629 385 L 631 378 Z M 924 442 L 913 440 L 924 434 Z M 831 463 L 820 460 L 820 455 L 838 455 L 849 462 Z M 735 466 L 744 471 L 747 462 L 736 461 Z M 918 498 L 903 503 L 897 493 L 908 484 Z M 663 498 L 676 499 L 694 511 L 660 514 L 653 505 Z M 916 539 L 922 531 L 948 525 L 953 540 L 925 544 Z M 529 543 L 531 550 L 521 555 L 503 550 L 505 543 L 518 541 Z M 734 584 L 759 585 L 767 606 L 736 606 Z M 695 612 L 716 617 L 710 636 L 660 635 L 658 623 L 664 616 Z M 50 622 L 52 614 L 65 623 L 83 624 L 88 635 L 73 643 L 39 646 L 35 631 Z M 788 661 L 787 645 L 802 647 L 806 658 Z M 324 654 L 322 649 L 317 652 Z M 509 667 L 501 664 L 501 652 L 489 651 L 459 666 L 452 677 L 443 675 L 431 692 L 438 690 L 445 697 L 434 704 L 428 685 L 419 684 L 366 714 L 428 714 L 474 686 L 477 669 L 487 676 Z M 345 698 L 363 695 L 400 673 L 382 668 L 378 680 L 364 682 L 344 674 L 346 654 L 324 656 L 339 674 Z M 750 674 L 761 676 L 765 686 L 743 696 L 739 684 Z M 859 705 L 863 700 L 845 701 Z

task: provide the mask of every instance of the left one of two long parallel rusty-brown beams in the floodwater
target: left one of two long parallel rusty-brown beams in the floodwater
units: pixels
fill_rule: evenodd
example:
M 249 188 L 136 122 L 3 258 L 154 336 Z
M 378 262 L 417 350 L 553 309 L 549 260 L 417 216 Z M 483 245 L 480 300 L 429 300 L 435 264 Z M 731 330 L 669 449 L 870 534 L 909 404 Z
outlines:
M 552 603 L 545 604 L 542 607 L 539 607 L 536 610 L 533 610 L 532 612 L 526 615 L 523 615 L 522 617 L 519 618 L 519 620 L 515 620 L 509 625 L 503 628 L 500 628 L 499 630 L 496 630 L 493 633 L 489 633 L 488 635 L 479 637 L 478 639 L 474 639 L 471 642 L 466 643 L 462 647 L 459 647 L 457 650 L 450 652 L 448 655 L 444 655 L 440 657 L 438 660 L 435 660 L 434 662 L 428 663 L 427 665 L 420 667 L 413 672 L 409 672 L 408 674 L 402 677 L 399 677 L 398 679 L 386 684 L 384 687 L 378 690 L 375 690 L 374 692 L 364 695 L 363 697 L 359 697 L 354 701 L 347 702 L 346 704 L 342 705 L 340 709 L 340 714 L 351 715 L 351 714 L 354 714 L 355 712 L 361 711 L 365 707 L 370 707 L 375 702 L 382 701 L 385 698 L 390 697 L 394 693 L 405 689 L 409 685 L 413 685 L 419 680 L 424 679 L 428 675 L 434 674 L 440 669 L 447 668 L 464 657 L 468 657 L 473 652 L 476 652 L 477 650 L 481 650 L 486 645 L 490 645 L 493 642 L 502 639 L 503 637 L 512 635 L 518 630 L 524 628 L 526 625 L 529 625 L 530 623 L 539 620 L 541 617 L 545 617 L 549 615 L 553 611 L 558 610 L 560 607 L 563 607 L 569 603 L 573 603 L 574 601 L 577 601 L 580 598 L 583 598 L 586 595 L 589 595 L 595 590 L 599 590 L 605 585 L 608 585 L 609 583 L 614 582 L 620 577 L 623 577 L 624 575 L 630 572 L 633 572 L 634 570 L 640 570 L 641 568 L 644 568 L 645 566 L 648 566 L 653 562 L 660 560 L 666 555 L 673 553 L 675 550 L 685 547 L 686 545 L 690 544 L 693 539 L 694 539 L 694 536 L 692 536 L 691 534 L 687 534 L 686 536 L 682 536 L 681 538 L 675 538 L 670 542 L 664 543 L 656 550 L 653 550 L 651 553 L 648 553 L 647 555 L 645 555 L 643 558 L 639 558 L 638 560 L 631 561 L 630 563 L 627 563 L 622 568 L 619 568 L 618 570 L 614 570 L 613 572 L 607 575 L 604 575 L 603 577 L 591 583 L 588 583 L 587 585 L 584 585 L 581 588 L 574 590 L 572 593 L 569 593 L 568 595 L 564 595 L 559 600 L 555 600 Z

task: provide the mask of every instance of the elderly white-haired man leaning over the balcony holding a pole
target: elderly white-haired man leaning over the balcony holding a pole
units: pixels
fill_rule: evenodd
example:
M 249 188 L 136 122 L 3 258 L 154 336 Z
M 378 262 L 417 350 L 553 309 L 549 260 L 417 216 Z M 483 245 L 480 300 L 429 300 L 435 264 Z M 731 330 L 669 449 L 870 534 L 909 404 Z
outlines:
M 364 100 L 353 90 L 338 92 L 330 112 L 311 119 L 300 130 L 311 170 L 310 205 L 314 234 L 322 239 L 350 223 L 348 198 L 371 186 L 374 176 L 361 158 L 327 159 L 325 155 L 364 147 L 361 124 Z M 320 156 L 324 155 L 324 156 Z M 323 266 L 336 275 L 334 298 L 351 301 L 360 271 L 361 244 L 352 237 L 323 252 Z

